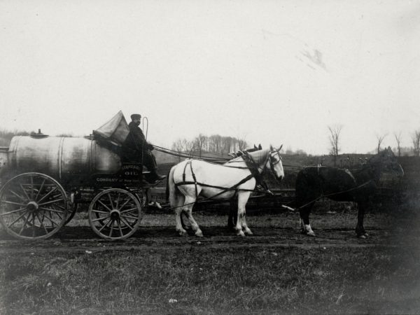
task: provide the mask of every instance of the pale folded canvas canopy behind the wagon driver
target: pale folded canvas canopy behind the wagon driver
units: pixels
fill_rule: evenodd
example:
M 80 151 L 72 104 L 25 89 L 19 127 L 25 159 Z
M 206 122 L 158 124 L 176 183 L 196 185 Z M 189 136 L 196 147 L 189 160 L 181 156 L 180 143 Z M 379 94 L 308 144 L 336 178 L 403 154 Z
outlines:
M 122 111 L 118 111 L 116 116 L 113 116 L 109 121 L 104 123 L 97 130 L 93 131 L 94 136 L 111 141 L 113 144 L 122 146 L 127 138 L 130 129 L 128 128 L 127 120 Z

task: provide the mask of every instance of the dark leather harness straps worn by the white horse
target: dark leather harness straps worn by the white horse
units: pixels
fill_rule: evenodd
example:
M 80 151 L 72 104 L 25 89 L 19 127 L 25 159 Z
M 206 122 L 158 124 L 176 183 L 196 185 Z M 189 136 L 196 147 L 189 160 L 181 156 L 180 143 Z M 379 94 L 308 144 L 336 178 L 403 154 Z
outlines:
M 277 153 L 278 154 L 278 153 Z M 194 184 L 195 186 L 195 198 L 197 199 L 198 197 L 198 189 L 197 189 L 197 185 L 200 186 L 204 186 L 204 187 L 210 187 L 210 188 L 218 188 L 221 189 L 222 191 L 220 193 L 217 193 L 216 195 L 213 195 L 207 199 L 211 199 L 214 197 L 217 197 L 219 195 L 222 195 L 224 193 L 227 193 L 230 190 L 235 190 L 235 194 L 232 196 L 232 199 L 236 197 L 238 190 L 241 191 L 255 191 L 255 190 L 251 190 L 251 189 L 237 189 L 237 187 L 239 187 L 241 184 L 246 183 L 247 181 L 249 181 L 252 178 L 255 178 L 256 181 L 256 185 L 260 185 L 267 193 L 271 193 L 268 189 L 267 184 L 265 183 L 265 181 L 263 181 L 262 176 L 260 174 L 260 172 L 258 172 L 258 165 L 256 165 L 255 161 L 253 160 L 253 158 L 251 157 L 251 155 L 248 154 L 248 152 L 244 152 L 244 155 L 241 156 L 241 158 L 244 160 L 246 167 L 236 167 L 236 166 L 228 166 L 228 165 L 221 165 L 224 167 L 233 167 L 233 168 L 237 168 L 237 169 L 249 169 L 249 171 L 251 172 L 251 174 L 249 174 L 248 176 L 246 176 L 244 179 L 241 179 L 241 181 L 239 181 L 238 183 L 236 183 L 234 186 L 226 188 L 226 187 L 221 187 L 221 186 L 214 186 L 214 185 L 209 185 L 206 183 L 198 183 L 197 182 L 197 178 L 195 177 L 195 173 L 193 171 L 193 160 L 188 160 L 186 162 L 186 165 L 184 166 L 183 169 L 183 174 L 182 174 L 182 182 L 181 183 L 175 183 L 176 187 L 179 186 L 184 186 L 184 185 L 192 185 Z M 269 160 L 269 165 L 270 165 L 270 169 L 272 170 L 272 172 L 274 172 L 274 165 L 276 165 L 277 163 L 280 162 L 280 159 L 277 161 L 273 160 L 274 158 L 271 156 L 271 152 L 267 155 L 267 159 L 264 162 L 264 165 L 267 163 L 267 160 Z M 190 167 L 190 171 L 191 171 L 191 175 L 193 176 L 193 181 L 186 181 L 186 169 L 187 167 Z M 272 193 L 271 193 L 272 194 Z

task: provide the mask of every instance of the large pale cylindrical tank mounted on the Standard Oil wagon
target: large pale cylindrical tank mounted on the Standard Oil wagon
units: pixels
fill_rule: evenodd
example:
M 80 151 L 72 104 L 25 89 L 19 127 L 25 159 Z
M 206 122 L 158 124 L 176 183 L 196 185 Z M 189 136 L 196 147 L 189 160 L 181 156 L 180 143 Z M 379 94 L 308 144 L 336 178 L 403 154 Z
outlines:
M 122 167 L 117 153 L 83 137 L 13 137 L 7 157 L 1 176 L 39 172 L 64 185 L 98 181 L 98 176 L 116 174 Z

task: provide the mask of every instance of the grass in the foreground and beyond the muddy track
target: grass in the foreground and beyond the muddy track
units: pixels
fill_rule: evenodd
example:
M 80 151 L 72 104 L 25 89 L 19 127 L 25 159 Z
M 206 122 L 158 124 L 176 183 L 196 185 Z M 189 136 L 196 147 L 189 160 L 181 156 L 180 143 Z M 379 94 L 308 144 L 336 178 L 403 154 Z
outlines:
M 367 230 L 390 237 L 363 243 L 353 237 L 354 210 L 315 213 L 314 228 L 324 239 L 332 233 L 328 229 L 339 229 L 349 241 L 308 247 L 270 244 L 269 239 L 286 233 L 293 237 L 285 239 L 309 244 L 297 233 L 295 213 L 249 216 L 257 235 L 246 239 L 212 234 L 214 228 L 223 231 L 226 216 L 201 213 L 196 218 L 204 239 L 177 237 L 172 215 L 146 214 L 144 228 L 163 229 L 170 237 L 147 239 L 140 233 L 122 242 L 125 247 L 111 243 L 101 251 L 87 249 L 85 236 L 76 244 L 58 237 L 46 246 L 45 241 L 1 241 L 0 314 L 420 312 L 420 232 L 412 214 L 367 215 Z M 83 228 L 85 214 L 72 224 L 74 230 Z M 149 246 L 144 238 L 155 243 Z M 261 239 L 266 241 L 250 246 Z M 59 250 L 70 243 L 73 251 Z M 102 244 L 98 239 L 97 245 Z

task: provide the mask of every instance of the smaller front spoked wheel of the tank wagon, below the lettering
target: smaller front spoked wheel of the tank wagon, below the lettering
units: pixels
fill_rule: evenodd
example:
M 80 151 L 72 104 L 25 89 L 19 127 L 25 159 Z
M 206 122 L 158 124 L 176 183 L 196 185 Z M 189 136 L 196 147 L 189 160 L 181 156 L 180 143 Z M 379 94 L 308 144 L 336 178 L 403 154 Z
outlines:
M 127 190 L 111 188 L 94 197 L 89 205 L 89 224 L 104 239 L 126 239 L 139 228 L 141 206 Z

